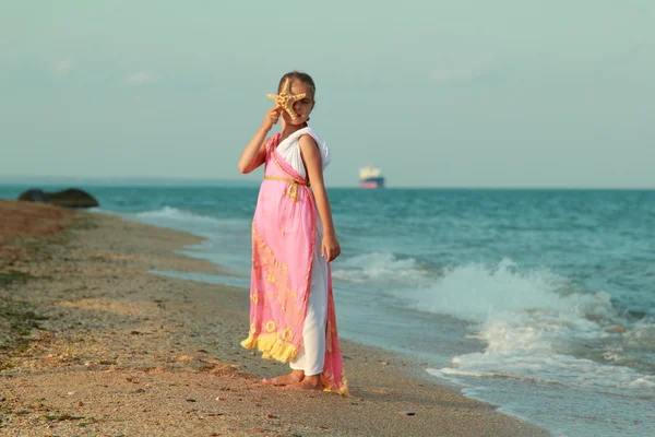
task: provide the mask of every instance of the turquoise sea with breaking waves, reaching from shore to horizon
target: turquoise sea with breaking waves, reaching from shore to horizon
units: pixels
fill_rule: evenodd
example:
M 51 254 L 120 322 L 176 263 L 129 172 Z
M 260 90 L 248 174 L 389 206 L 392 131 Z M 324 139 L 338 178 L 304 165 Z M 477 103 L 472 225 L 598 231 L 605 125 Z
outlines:
M 230 274 L 190 277 L 248 287 L 257 186 L 84 188 L 99 212 L 206 237 L 184 253 Z M 342 336 L 553 436 L 654 435 L 655 191 L 330 197 Z

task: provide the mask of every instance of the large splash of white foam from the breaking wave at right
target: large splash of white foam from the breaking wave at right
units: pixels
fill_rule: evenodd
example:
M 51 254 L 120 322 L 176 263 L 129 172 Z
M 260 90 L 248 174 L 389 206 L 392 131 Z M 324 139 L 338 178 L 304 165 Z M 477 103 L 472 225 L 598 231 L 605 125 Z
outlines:
M 507 259 L 493 268 L 457 267 L 431 287 L 404 295 L 416 309 L 474 322 L 471 336 L 486 344 L 484 352 L 455 356 L 450 367 L 429 369 L 431 375 L 653 388 L 652 377 L 619 365 L 623 351 L 611 342 L 651 338 L 652 324 L 630 326 L 609 294 L 574 292 L 565 277 L 547 269 L 520 271 Z M 603 345 L 605 355 L 600 349 L 597 359 L 586 356 L 590 347 Z

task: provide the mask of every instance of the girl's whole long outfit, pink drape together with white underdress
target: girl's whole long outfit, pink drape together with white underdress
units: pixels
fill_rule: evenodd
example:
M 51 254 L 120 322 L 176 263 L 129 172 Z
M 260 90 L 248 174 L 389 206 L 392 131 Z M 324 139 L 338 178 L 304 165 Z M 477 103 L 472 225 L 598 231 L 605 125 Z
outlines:
M 323 167 L 330 161 L 310 128 L 266 144 L 252 223 L 250 332 L 241 344 L 306 375 L 320 373 L 324 390 L 346 394 L 330 265 L 320 256 L 322 229 L 300 158 L 302 134 L 317 141 Z

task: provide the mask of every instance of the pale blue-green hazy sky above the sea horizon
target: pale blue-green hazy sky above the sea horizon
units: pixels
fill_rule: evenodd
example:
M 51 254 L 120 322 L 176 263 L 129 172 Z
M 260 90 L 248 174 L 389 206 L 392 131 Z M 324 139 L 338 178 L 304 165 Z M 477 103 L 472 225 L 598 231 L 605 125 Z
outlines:
M 653 23 L 653 0 L 2 0 L 0 177 L 261 179 L 237 162 L 301 70 L 329 187 L 373 164 L 390 187 L 655 188 Z

